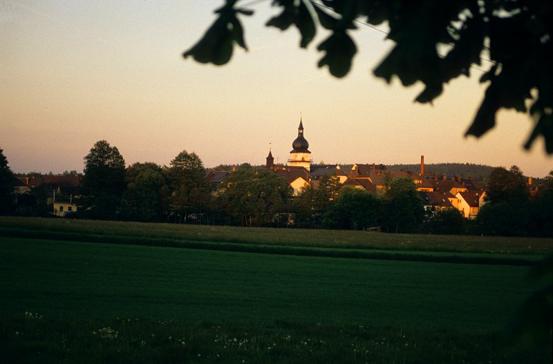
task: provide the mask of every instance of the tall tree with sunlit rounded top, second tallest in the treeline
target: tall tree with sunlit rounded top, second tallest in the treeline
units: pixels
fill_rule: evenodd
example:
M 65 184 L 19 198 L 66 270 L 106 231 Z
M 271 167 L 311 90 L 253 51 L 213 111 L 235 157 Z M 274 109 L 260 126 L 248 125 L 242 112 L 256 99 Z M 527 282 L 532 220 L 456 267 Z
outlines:
M 171 160 L 167 175 L 171 186 L 171 205 L 179 221 L 186 221 L 192 213 L 207 211 L 211 189 L 203 162 L 196 153 L 178 153 L 174 160 Z

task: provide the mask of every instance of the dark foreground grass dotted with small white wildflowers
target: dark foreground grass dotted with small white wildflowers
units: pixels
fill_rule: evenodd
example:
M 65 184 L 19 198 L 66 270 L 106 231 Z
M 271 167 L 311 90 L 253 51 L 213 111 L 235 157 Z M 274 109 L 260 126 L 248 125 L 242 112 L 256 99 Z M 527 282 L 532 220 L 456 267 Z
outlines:
M 0 322 L 3 363 L 550 363 L 550 349 L 486 330 L 62 320 Z

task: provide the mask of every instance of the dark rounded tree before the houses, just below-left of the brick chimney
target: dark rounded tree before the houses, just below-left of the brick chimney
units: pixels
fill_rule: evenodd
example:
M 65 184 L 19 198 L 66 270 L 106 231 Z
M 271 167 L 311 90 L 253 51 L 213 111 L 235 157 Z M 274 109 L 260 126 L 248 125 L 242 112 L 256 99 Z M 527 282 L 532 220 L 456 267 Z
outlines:
M 424 208 L 411 178 L 395 178 L 384 195 L 384 224 L 388 231 L 413 233 L 420 229 Z

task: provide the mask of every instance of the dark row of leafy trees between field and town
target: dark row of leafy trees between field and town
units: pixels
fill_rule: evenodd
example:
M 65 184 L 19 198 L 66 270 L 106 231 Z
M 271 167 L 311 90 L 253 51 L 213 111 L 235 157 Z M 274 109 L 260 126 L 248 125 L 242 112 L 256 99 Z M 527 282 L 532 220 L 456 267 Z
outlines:
M 10 192 L 13 185 L 9 184 L 15 177 L 1 150 L 0 162 L 0 212 L 50 215 L 53 209 L 46 206 L 46 196 L 39 196 L 39 189 L 26 195 Z M 553 171 L 543 179 L 540 189 L 532 192 L 518 167 L 491 169 L 485 179 L 487 203 L 476 220 L 466 220 L 457 209 L 424 210 L 417 186 L 409 178 L 395 178 L 375 195 L 343 186 L 337 177 L 326 175 L 294 195 L 284 178 L 263 167 L 218 167 L 218 171 L 224 170 L 225 177 L 210 185 L 200 157 L 187 151 L 180 152 L 169 166 L 144 162 L 126 167 L 118 149 L 101 140 L 84 157 L 84 175 L 75 195 L 71 195 L 78 208 L 66 217 L 390 233 L 553 236 Z M 72 171 L 64 175 L 78 174 Z M 68 200 L 70 196 L 58 191 L 56 198 Z

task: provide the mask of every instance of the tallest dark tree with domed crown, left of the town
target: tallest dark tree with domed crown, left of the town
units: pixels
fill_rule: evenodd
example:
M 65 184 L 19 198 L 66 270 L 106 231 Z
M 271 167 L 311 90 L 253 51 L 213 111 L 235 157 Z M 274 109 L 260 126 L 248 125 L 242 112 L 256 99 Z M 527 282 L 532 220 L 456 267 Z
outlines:
M 105 140 L 95 142 L 84 157 L 81 194 L 85 211 L 91 218 L 116 218 L 125 186 L 125 161 L 117 147 Z

